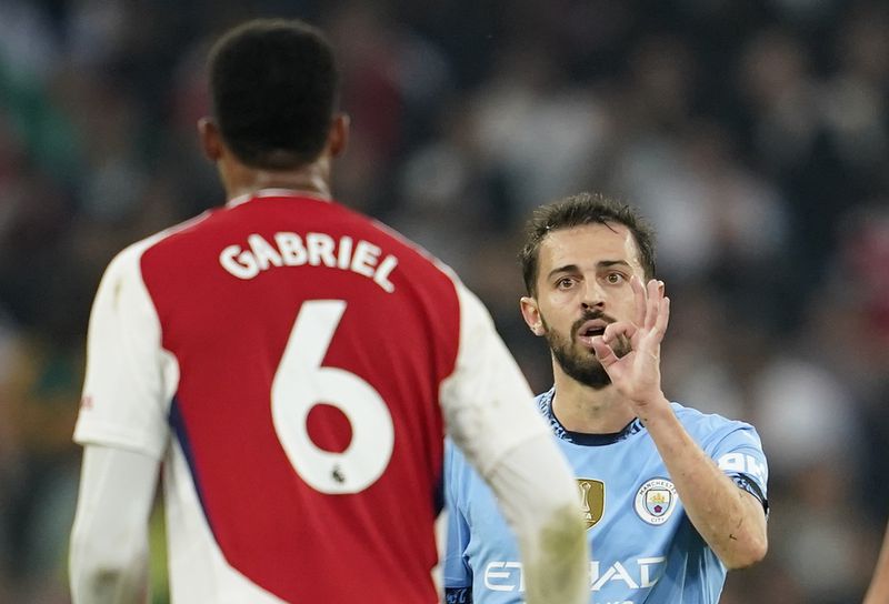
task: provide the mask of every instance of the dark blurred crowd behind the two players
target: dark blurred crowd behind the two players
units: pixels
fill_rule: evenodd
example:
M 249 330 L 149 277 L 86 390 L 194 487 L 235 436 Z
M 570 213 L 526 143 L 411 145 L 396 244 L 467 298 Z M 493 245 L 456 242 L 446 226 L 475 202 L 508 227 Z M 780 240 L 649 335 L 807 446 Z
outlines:
M 204 58 L 257 16 L 329 32 L 337 197 L 453 266 L 538 391 L 522 223 L 581 190 L 640 207 L 668 396 L 752 422 L 770 462 L 769 555 L 722 602 L 860 601 L 889 513 L 889 3 L 0 0 L 0 602 L 68 602 L 91 299 L 223 201 Z

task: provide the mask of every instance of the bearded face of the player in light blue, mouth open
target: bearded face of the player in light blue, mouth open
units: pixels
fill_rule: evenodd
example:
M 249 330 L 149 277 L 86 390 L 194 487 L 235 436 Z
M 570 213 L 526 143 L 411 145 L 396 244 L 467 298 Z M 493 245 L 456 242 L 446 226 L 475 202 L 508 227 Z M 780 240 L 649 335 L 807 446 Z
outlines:
M 632 233 L 622 224 L 585 224 L 552 231 L 538 256 L 537 295 L 521 301 L 525 321 L 543 335 L 561 370 L 578 382 L 611 383 L 592 350 L 608 323 L 632 321 L 630 278 L 645 280 Z M 621 339 L 618 356 L 630 351 Z

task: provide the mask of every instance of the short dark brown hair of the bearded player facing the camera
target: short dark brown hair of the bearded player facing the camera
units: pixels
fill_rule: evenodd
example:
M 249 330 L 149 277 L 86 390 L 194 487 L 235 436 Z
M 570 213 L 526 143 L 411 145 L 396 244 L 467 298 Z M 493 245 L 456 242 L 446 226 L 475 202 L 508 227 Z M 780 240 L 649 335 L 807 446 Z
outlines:
M 639 211 L 600 193 L 579 193 L 541 205 L 525 229 L 525 245 L 519 252 L 525 289 L 537 294 L 540 244 L 552 231 L 582 224 L 622 224 L 629 229 L 639 250 L 646 279 L 655 276 L 655 229 Z

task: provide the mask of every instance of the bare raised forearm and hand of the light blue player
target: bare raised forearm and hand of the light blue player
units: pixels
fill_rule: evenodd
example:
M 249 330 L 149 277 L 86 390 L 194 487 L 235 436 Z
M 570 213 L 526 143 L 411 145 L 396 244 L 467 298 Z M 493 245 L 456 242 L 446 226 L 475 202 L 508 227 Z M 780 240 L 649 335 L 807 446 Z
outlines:
M 593 343 L 596 355 L 651 434 L 688 516 L 705 541 L 729 568 L 755 564 L 768 550 L 762 504 L 723 474 L 676 417 L 660 386 L 660 344 L 670 300 L 659 281 L 649 281 L 646 291 L 633 278 L 632 288 L 636 321 L 608 325 L 601 340 Z M 610 345 L 619 336 L 629 340 L 632 349 L 620 359 Z

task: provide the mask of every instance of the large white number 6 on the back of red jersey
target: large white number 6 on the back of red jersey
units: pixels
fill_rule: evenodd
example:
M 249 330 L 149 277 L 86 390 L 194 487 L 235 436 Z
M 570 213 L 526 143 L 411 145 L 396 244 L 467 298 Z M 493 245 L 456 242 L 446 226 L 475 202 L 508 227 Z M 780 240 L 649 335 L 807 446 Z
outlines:
M 394 444 L 380 393 L 354 373 L 321 366 L 343 312 L 342 300 L 302 304 L 271 385 L 272 423 L 290 464 L 310 486 L 331 495 L 373 484 Z M 309 436 L 309 412 L 319 403 L 339 409 L 351 424 L 352 440 L 342 453 L 324 451 Z

